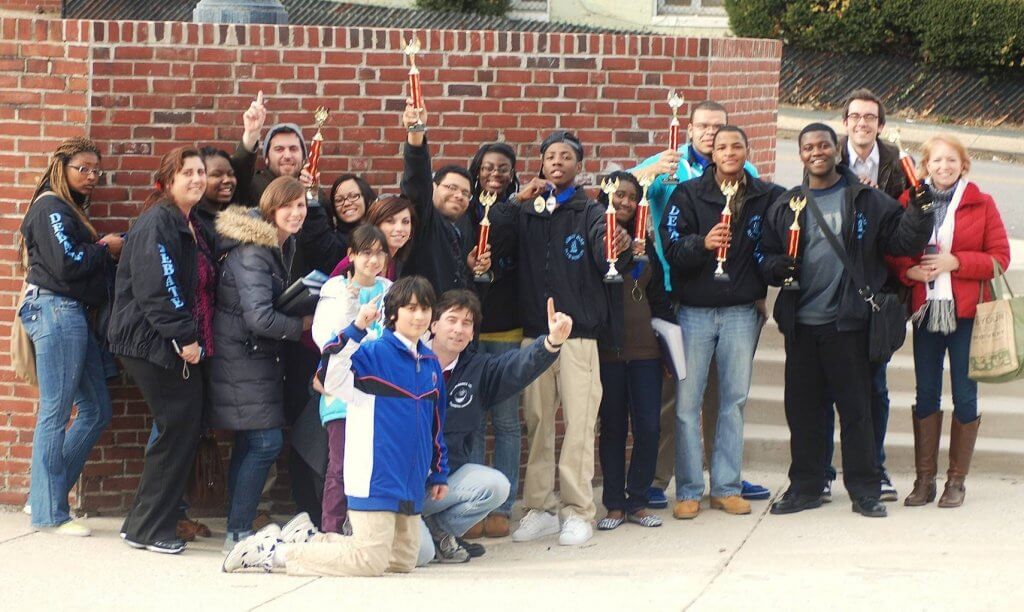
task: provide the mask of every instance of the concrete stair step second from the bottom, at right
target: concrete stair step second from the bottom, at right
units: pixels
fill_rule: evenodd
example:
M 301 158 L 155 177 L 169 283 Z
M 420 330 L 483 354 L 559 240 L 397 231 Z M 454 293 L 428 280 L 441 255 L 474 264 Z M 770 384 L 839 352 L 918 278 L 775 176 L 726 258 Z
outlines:
M 910 418 L 910 405 L 913 393 L 889 393 L 889 428 L 888 432 L 913 433 L 913 422 Z M 949 432 L 952 420 L 952 399 L 943 397 L 943 427 Z M 982 431 L 1008 440 L 1024 442 L 1024 410 L 1021 400 L 1008 396 L 981 396 L 978 398 L 978 408 L 984 416 Z M 837 423 L 839 416 L 837 414 Z M 775 386 L 755 385 L 746 399 L 743 410 L 743 423 L 748 425 L 773 425 L 785 427 L 785 409 L 782 403 L 782 388 Z M 886 444 L 888 445 L 888 437 Z

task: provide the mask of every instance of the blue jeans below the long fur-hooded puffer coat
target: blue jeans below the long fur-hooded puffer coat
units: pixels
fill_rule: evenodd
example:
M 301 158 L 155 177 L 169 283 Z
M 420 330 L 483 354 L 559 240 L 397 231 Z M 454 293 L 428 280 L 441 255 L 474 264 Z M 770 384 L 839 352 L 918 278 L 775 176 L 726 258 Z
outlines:
M 250 534 L 270 466 L 281 454 L 285 436 L 280 428 L 234 432 L 231 465 L 227 470 L 227 537 Z

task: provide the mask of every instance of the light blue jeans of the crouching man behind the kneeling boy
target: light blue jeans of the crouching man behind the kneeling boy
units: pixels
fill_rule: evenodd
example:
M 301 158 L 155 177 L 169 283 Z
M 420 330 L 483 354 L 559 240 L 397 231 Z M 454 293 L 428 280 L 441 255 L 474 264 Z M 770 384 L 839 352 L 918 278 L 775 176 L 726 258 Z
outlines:
M 434 517 L 445 533 L 461 537 L 479 523 L 509 496 L 511 486 L 498 470 L 466 464 L 449 476 L 449 492 L 435 501 L 423 502 L 423 517 Z M 423 521 L 420 521 L 420 555 L 416 565 L 426 565 L 434 558 L 434 541 Z

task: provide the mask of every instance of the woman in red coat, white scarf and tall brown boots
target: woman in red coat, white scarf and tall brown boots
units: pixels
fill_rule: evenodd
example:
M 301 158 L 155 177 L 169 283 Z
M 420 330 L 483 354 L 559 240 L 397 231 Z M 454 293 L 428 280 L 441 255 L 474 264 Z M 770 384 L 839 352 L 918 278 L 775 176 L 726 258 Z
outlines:
M 900 279 L 911 288 L 914 322 L 918 392 L 913 449 L 918 477 L 904 500 L 906 506 L 924 506 L 935 499 L 942 435 L 942 363 L 947 352 L 953 421 L 949 471 L 940 508 L 964 502 L 964 479 L 981 423 L 978 384 L 968 378 L 971 331 L 981 287 L 992 278 L 992 261 L 1006 269 L 1010 245 L 992 198 L 965 178 L 970 169 L 971 159 L 955 136 L 939 135 L 925 142 L 921 172 L 934 193 L 935 230 L 925 254 L 893 261 Z M 901 198 L 904 206 L 907 199 L 906 193 Z

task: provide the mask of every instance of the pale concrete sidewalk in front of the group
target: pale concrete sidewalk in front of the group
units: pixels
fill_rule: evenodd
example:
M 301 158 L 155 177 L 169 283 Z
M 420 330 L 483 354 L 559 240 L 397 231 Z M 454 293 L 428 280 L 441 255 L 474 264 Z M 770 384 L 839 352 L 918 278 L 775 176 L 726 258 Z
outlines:
M 942 461 L 943 467 L 945 458 Z M 778 471 L 749 471 L 778 491 Z M 901 493 L 912 477 L 894 475 Z M 940 485 L 941 486 L 941 485 Z M 0 514 L 0 598 L 20 610 L 1014 610 L 1024 599 L 1024 479 L 968 479 L 967 505 L 890 504 L 887 519 L 835 501 L 787 517 L 732 517 L 624 525 L 588 544 L 554 537 L 483 540 L 466 565 L 433 565 L 384 578 L 295 578 L 219 571 L 223 522 L 213 539 L 171 557 L 133 551 L 120 520 L 91 518 L 93 537 L 29 529 Z

